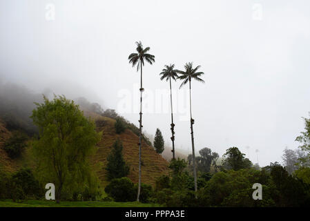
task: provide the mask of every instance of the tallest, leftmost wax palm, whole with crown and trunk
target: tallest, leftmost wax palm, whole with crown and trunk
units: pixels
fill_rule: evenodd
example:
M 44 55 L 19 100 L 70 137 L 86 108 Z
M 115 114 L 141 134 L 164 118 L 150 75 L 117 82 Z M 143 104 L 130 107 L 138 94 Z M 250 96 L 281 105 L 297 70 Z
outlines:
M 137 53 L 131 53 L 128 57 L 129 64 L 133 64 L 133 67 L 137 65 L 137 71 L 141 70 L 140 75 L 140 119 L 139 119 L 139 184 L 138 184 L 138 193 L 137 193 L 137 201 L 139 201 L 140 190 L 141 190 L 141 152 L 142 152 L 142 92 L 144 88 L 142 87 L 142 67 L 144 66 L 144 61 L 147 61 L 149 64 L 153 64 L 155 62 L 155 56 L 148 54 L 149 47 L 143 48 L 142 42 L 136 42 L 137 44 Z

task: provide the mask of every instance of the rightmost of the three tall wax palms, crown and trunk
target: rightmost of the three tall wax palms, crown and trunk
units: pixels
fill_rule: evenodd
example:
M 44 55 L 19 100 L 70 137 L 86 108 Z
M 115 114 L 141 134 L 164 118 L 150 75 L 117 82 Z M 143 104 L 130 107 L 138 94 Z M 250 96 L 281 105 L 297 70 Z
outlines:
M 195 162 L 195 144 L 194 144 L 194 132 L 193 124 L 194 119 L 192 115 L 192 102 L 191 102 L 191 81 L 196 80 L 204 83 L 204 80 L 200 78 L 201 75 L 204 75 L 203 72 L 197 72 L 200 66 L 193 68 L 193 62 L 188 62 L 184 66 L 185 71 L 178 70 L 177 73 L 180 73 L 180 76 L 177 79 L 183 80 L 180 88 L 189 82 L 189 104 L 190 104 L 190 113 L 191 113 L 191 142 L 192 142 L 192 151 L 193 151 L 193 173 L 194 173 L 194 182 L 195 182 L 195 192 L 197 192 L 197 173 L 196 173 L 196 162 Z M 197 198 L 197 195 L 196 195 Z

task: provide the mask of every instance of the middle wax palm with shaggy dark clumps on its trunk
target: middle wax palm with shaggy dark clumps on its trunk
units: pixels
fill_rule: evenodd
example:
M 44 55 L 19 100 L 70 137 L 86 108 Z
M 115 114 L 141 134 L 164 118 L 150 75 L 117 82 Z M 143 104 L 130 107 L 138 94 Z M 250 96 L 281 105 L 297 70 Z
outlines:
M 177 77 L 177 71 L 173 69 L 175 67 L 174 64 L 171 64 L 170 66 L 165 65 L 165 68 L 162 69 L 162 73 L 159 75 L 162 75 L 160 78 L 161 80 L 166 79 L 166 81 L 169 80 L 170 84 L 170 104 L 171 104 L 171 140 L 172 140 L 172 159 L 175 160 L 175 124 L 173 124 L 173 105 L 172 105 L 172 89 L 171 89 L 171 78 L 176 81 Z

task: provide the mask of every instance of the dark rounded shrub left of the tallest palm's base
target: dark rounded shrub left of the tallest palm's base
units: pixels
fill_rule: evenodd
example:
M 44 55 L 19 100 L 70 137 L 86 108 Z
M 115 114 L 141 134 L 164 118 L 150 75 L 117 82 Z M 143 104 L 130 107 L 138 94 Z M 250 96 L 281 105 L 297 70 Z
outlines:
M 104 191 L 116 202 L 132 202 L 136 197 L 135 186 L 128 177 L 111 180 Z

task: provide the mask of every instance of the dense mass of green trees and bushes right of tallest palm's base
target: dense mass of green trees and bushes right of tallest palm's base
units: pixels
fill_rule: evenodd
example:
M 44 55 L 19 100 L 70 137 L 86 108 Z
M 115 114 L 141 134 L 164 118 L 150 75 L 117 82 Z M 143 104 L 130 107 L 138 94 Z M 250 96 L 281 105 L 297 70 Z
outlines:
M 239 153 L 229 148 L 226 153 Z M 244 158 L 233 157 L 234 165 L 244 166 Z M 307 206 L 310 204 L 310 185 L 298 175 L 289 173 L 279 164 L 271 164 L 261 170 L 235 166 L 213 175 L 202 173 L 194 180 L 186 171 L 185 160 L 173 160 L 169 166 L 172 173 L 156 182 L 153 201 L 164 206 Z M 307 173 L 308 171 L 304 171 Z M 308 172 L 309 173 L 309 172 Z M 300 177 L 307 177 L 300 173 Z M 262 184 L 263 200 L 253 200 L 252 186 Z

